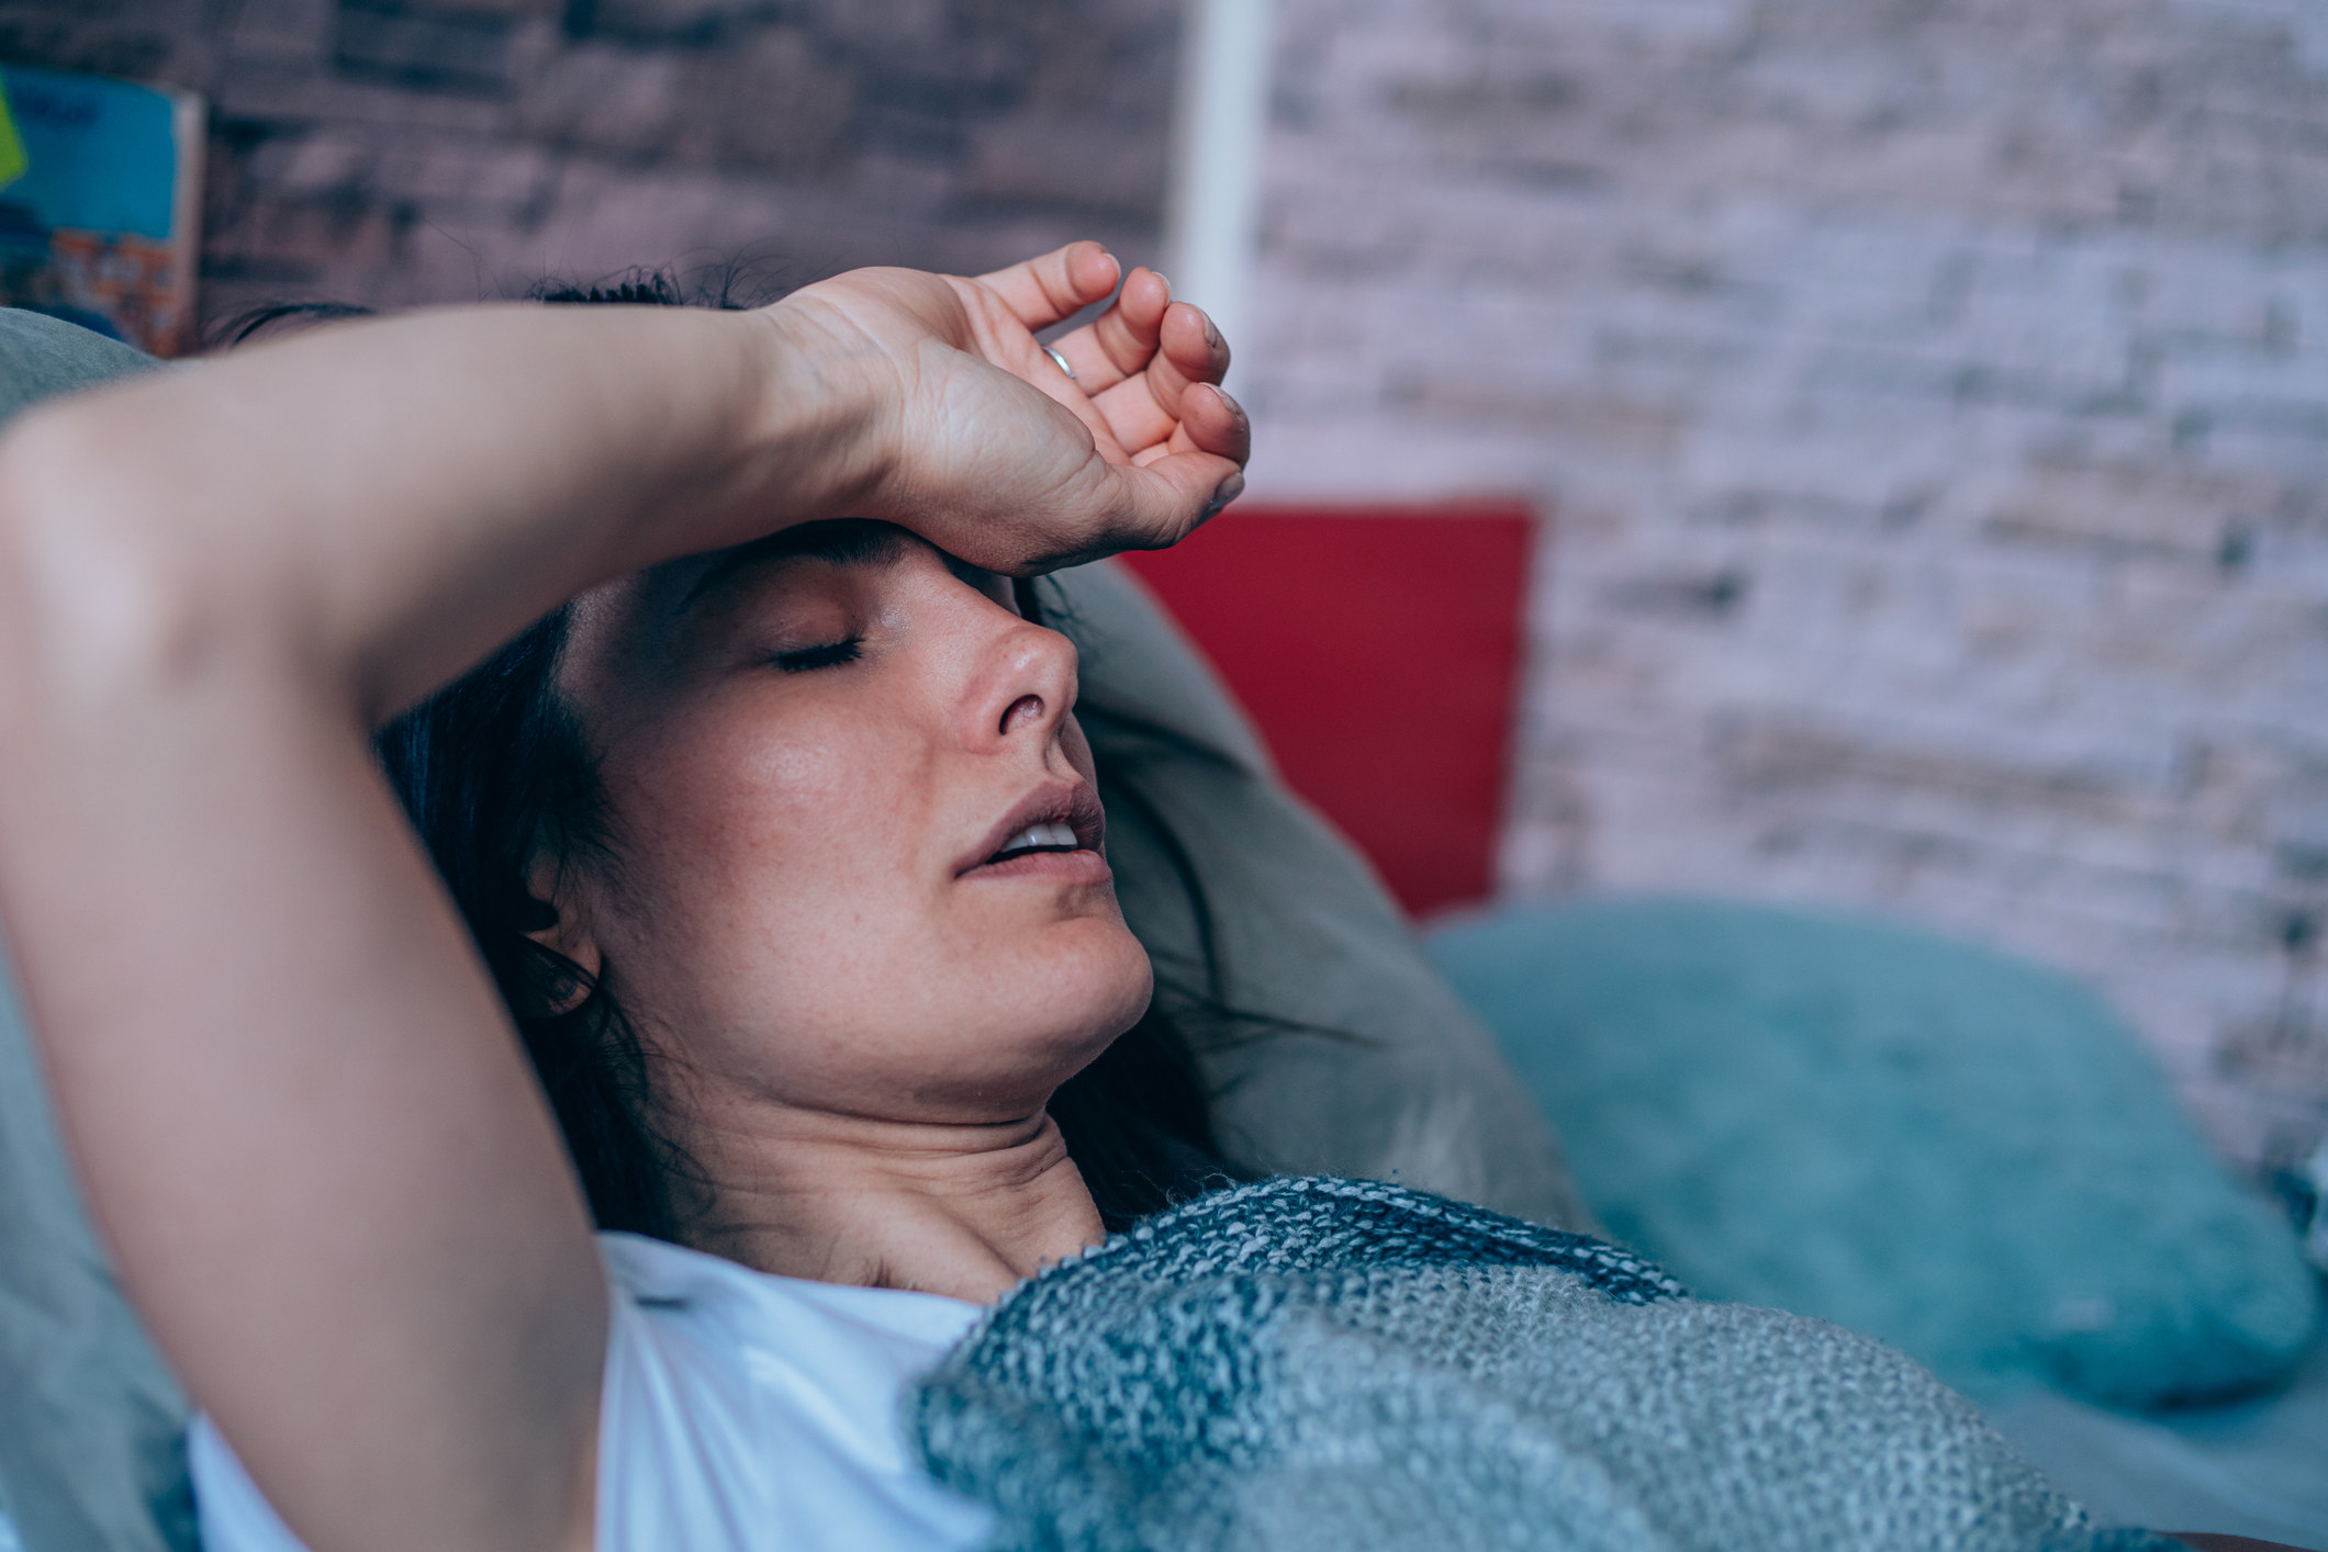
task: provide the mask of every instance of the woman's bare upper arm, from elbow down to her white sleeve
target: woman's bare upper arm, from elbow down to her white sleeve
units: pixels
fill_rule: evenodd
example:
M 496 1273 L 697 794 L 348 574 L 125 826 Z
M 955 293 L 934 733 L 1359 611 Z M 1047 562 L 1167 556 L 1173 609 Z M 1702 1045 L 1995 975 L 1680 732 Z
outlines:
M 580 1547 L 591 1224 L 361 733 L 303 696 L 214 675 L 40 754 L 0 728 L 0 921 L 58 1119 L 149 1331 L 310 1547 Z

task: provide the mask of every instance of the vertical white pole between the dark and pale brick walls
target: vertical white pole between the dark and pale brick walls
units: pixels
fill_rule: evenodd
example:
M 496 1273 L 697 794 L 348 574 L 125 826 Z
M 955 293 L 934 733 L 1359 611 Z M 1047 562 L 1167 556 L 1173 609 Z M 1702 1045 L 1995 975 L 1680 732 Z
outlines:
M 1187 0 L 1164 275 L 1232 349 L 1250 349 L 1245 289 L 1259 237 L 1269 130 L 1269 0 Z M 1234 368 L 1232 368 L 1234 377 Z

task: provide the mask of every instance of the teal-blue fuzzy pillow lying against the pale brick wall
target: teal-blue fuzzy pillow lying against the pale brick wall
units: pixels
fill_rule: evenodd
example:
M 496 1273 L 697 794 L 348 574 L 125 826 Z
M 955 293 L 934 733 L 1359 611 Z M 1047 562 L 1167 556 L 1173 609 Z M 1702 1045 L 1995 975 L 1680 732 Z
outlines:
M 2035 966 L 1718 900 L 1434 935 L 1611 1231 L 1692 1291 L 1820 1315 L 1974 1394 L 2114 1405 L 2291 1373 L 2319 1284 L 2139 1040 Z

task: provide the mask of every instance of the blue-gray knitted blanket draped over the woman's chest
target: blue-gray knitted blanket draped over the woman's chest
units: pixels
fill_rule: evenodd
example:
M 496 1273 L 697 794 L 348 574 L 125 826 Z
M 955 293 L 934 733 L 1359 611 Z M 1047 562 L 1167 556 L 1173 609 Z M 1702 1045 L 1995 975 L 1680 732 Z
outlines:
M 996 1547 L 2135 1552 L 1897 1352 L 1399 1187 L 1204 1196 L 1020 1284 L 913 1398 Z

